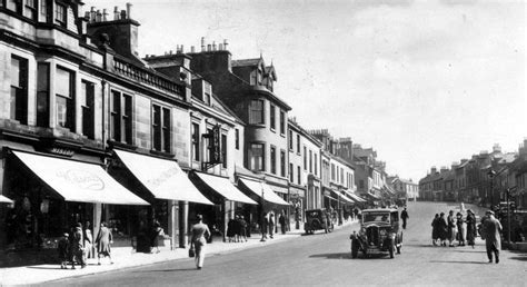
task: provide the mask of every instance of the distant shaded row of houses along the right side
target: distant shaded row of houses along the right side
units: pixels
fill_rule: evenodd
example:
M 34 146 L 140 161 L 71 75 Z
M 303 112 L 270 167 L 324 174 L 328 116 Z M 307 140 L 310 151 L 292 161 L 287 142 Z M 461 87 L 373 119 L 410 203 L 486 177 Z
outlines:
M 445 200 L 495 207 L 503 201 L 527 206 L 527 139 L 517 151 L 504 152 L 499 145 L 493 151 L 480 151 L 454 162 L 450 168 L 430 168 L 419 180 L 422 200 Z

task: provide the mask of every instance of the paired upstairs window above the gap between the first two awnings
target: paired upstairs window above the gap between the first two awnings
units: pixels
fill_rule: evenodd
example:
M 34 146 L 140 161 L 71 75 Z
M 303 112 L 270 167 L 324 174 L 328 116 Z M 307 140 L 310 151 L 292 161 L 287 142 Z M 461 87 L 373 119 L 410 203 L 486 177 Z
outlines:
M 110 137 L 115 141 L 132 144 L 132 98 L 112 90 L 110 99 Z

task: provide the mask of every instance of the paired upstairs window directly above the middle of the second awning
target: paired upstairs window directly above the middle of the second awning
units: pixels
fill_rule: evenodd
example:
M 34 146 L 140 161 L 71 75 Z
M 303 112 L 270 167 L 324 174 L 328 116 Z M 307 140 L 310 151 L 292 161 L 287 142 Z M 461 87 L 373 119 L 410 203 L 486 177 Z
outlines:
M 152 105 L 152 149 L 170 152 L 170 109 Z

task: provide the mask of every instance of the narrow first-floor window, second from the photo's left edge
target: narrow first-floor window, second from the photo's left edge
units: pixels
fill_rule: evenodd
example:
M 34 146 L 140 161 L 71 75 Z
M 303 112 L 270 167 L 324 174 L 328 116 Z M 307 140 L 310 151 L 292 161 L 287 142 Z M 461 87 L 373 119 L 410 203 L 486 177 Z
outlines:
M 49 63 L 37 65 L 37 126 L 43 128 L 49 128 Z

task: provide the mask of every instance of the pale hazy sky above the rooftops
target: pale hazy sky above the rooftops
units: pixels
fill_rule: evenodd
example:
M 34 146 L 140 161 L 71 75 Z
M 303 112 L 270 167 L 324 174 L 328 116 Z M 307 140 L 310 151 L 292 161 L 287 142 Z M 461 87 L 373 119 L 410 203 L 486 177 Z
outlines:
M 126 9 L 127 1 L 84 0 Z M 521 0 L 130 1 L 139 52 L 227 39 L 232 59 L 272 65 L 275 92 L 306 129 L 377 150 L 415 181 L 527 138 Z

